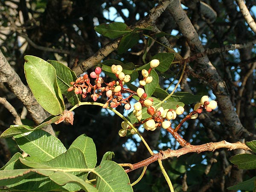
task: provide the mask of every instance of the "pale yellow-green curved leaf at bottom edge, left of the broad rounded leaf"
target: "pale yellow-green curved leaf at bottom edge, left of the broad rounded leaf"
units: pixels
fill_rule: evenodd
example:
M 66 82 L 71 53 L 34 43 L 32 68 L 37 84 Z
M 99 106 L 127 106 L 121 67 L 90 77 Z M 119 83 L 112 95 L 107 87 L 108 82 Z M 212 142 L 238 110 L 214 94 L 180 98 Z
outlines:
M 86 183 L 84 180 L 80 179 L 76 175 L 72 175 L 70 173 L 66 172 L 54 172 L 52 175 L 49 176 L 49 178 L 57 183 L 58 185 L 65 185 L 67 183 L 76 183 L 79 185 L 84 191 L 86 192 L 97 192 L 98 190 L 90 185 L 89 183 Z

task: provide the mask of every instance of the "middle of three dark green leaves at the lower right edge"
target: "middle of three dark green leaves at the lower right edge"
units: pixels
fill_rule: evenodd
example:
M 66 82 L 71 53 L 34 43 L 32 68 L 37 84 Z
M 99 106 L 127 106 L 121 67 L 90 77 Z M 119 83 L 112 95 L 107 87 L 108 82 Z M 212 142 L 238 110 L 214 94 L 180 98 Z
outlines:
M 237 154 L 230 157 L 230 161 L 239 169 L 256 169 L 256 155 L 253 154 Z

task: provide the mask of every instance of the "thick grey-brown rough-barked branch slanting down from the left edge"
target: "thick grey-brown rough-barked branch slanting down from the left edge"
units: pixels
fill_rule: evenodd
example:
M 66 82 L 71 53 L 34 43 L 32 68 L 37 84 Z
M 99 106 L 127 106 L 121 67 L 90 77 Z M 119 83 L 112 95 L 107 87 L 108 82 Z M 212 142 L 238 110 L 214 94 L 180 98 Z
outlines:
M 0 50 L 0 81 L 6 82 L 11 89 L 11 91 L 23 102 L 26 109 L 29 111 L 35 123 L 39 124 L 44 119 L 47 118 L 47 115 L 44 109 L 39 105 L 33 96 L 32 92 L 26 87 L 15 70 L 12 69 L 3 53 Z M 55 135 L 52 126 L 48 125 L 44 128 L 45 131 L 50 134 Z

